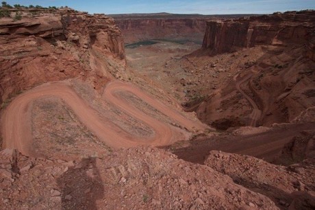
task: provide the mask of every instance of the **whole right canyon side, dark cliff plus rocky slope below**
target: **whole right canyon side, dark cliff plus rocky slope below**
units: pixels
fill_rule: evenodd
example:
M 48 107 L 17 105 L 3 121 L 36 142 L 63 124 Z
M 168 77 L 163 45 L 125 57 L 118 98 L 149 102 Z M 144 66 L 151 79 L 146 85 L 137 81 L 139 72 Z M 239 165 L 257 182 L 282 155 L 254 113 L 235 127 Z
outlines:
M 181 61 L 191 84 L 205 83 L 188 86 L 197 101 L 187 106 L 220 129 L 299 117 L 315 106 L 314 19 L 308 10 L 208 22 L 203 49 Z

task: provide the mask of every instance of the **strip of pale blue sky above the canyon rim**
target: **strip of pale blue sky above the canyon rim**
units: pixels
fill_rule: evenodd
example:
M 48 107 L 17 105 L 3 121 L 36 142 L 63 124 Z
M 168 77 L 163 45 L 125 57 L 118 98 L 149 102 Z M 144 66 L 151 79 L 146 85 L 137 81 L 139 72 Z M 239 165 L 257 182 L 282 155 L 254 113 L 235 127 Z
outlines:
M 3 0 L 1 0 L 3 1 Z M 5 1 L 5 0 L 4 0 Z M 315 0 L 7 0 L 14 5 L 64 6 L 89 13 L 121 14 L 170 12 L 179 14 L 269 14 L 288 10 L 315 9 Z

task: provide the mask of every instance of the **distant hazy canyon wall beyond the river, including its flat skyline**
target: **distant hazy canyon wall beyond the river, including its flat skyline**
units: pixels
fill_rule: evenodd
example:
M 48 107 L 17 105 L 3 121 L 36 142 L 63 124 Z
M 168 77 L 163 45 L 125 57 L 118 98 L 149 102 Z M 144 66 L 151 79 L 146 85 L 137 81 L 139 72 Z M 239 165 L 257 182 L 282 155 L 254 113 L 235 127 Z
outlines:
M 202 44 L 206 21 L 243 17 L 246 14 L 110 14 L 121 29 L 125 43 L 142 40 L 173 40 Z

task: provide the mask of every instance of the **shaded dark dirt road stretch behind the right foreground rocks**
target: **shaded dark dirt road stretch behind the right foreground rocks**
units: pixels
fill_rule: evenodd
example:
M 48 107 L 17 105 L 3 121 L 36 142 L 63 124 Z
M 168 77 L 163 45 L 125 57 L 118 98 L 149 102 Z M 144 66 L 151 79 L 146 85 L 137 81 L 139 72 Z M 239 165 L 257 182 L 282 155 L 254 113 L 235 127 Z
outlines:
M 266 132 L 253 135 L 231 135 L 229 133 L 216 137 L 200 137 L 189 141 L 186 148 L 178 148 L 172 152 L 180 159 L 192 163 L 201 163 L 211 150 L 220 150 L 236 154 L 247 154 L 266 161 L 273 161 L 281 152 L 283 145 L 303 130 L 314 130 L 315 123 L 283 124 L 279 128 L 272 128 Z M 171 148 L 172 146 L 168 146 Z

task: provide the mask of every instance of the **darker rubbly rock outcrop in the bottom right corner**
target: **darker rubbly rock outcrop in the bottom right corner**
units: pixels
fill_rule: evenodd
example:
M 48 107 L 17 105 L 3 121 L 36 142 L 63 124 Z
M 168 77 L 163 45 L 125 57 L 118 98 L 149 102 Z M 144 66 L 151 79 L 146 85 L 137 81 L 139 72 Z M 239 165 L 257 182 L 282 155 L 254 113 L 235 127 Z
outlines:
M 314 159 L 284 167 L 251 156 L 212 151 L 205 165 L 227 174 L 239 185 L 268 196 L 281 208 L 315 207 Z

